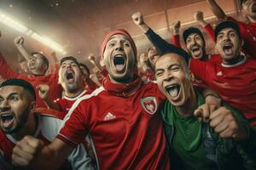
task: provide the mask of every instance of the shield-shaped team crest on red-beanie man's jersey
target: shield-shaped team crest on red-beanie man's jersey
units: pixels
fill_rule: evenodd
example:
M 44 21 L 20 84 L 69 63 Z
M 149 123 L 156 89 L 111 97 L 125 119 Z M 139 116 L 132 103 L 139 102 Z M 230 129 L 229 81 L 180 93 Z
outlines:
M 150 115 L 153 115 L 157 110 L 157 102 L 154 97 L 147 97 L 141 99 L 143 110 L 147 111 Z

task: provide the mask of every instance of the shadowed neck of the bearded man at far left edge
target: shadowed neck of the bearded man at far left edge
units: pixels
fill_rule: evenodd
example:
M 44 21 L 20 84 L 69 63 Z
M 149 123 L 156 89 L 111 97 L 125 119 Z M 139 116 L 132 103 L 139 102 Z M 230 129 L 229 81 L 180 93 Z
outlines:
M 33 113 L 29 113 L 29 114 L 33 114 Z M 11 133 L 11 136 L 15 140 L 23 139 L 26 135 L 33 136 L 37 127 L 38 127 L 38 117 L 34 116 L 31 120 L 29 119 L 27 120 L 25 126 L 22 127 L 19 132 Z

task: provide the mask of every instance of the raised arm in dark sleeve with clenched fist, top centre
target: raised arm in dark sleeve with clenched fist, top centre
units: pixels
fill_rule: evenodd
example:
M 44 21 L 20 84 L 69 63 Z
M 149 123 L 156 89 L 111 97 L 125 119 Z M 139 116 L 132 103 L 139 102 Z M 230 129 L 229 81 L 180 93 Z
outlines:
M 165 53 L 176 53 L 181 56 L 186 61 L 189 61 L 189 54 L 183 50 L 183 48 L 177 48 L 175 45 L 166 42 L 162 37 L 156 34 L 143 20 L 143 14 L 137 12 L 132 14 L 131 16 L 133 22 L 141 28 L 141 30 L 145 33 L 148 37 L 148 40 L 154 45 L 155 48 L 160 50 L 161 54 Z

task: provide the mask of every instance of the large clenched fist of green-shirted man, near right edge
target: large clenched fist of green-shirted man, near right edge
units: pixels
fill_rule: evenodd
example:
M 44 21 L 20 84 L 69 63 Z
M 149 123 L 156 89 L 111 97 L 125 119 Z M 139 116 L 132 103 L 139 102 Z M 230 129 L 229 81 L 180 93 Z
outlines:
M 226 107 L 219 107 L 216 111 L 212 111 L 209 119 L 210 126 L 221 138 L 236 140 L 247 138 L 246 128 L 236 120 L 233 113 Z

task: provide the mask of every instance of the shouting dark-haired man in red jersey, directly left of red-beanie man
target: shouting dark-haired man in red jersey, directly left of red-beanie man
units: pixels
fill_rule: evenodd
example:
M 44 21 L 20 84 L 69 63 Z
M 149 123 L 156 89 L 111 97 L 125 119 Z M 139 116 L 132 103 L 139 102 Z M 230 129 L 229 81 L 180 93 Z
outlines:
M 38 92 L 48 108 L 63 112 L 64 117 L 77 99 L 85 94 L 90 94 L 91 91 L 85 90 L 85 75 L 80 69 L 77 59 L 72 56 L 64 57 L 61 59 L 60 64 L 59 83 L 64 89 L 64 96 L 55 100 L 49 99 L 49 94 L 52 93 L 52 90 L 46 84 L 40 84 Z

